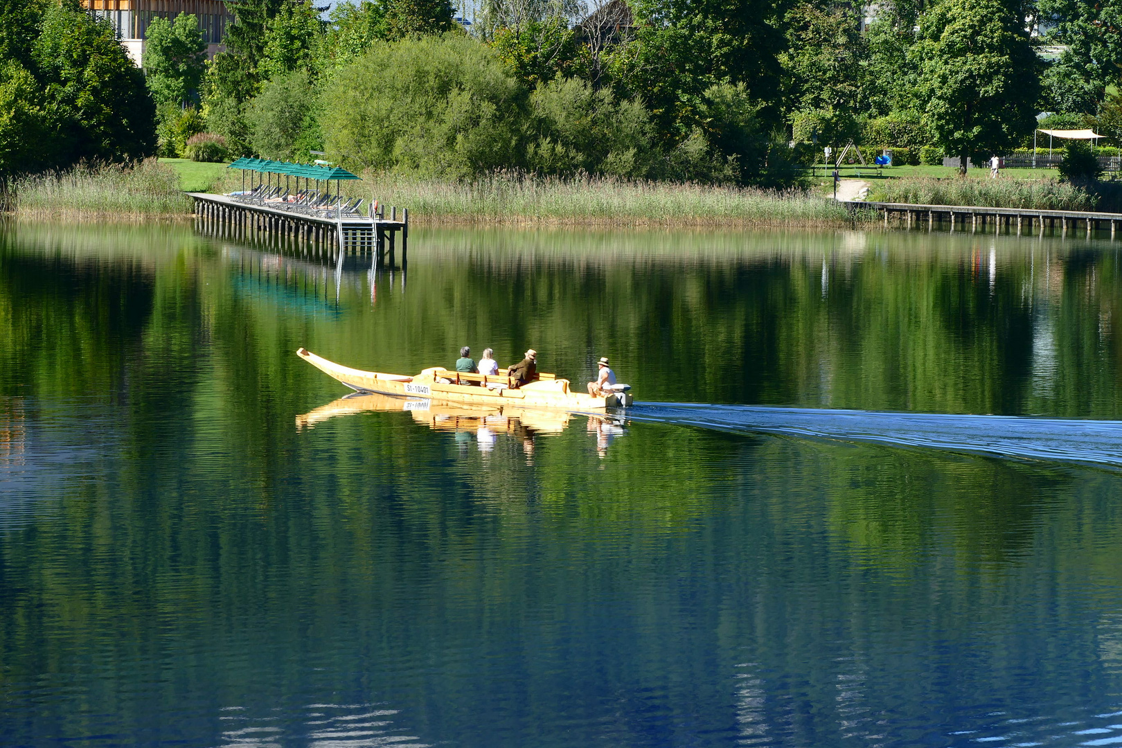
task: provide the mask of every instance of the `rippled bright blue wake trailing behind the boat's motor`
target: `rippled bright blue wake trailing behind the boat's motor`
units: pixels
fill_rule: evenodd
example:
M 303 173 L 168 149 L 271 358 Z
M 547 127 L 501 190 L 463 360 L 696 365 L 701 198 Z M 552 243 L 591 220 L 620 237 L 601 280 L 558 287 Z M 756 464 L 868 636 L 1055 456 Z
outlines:
M 643 403 L 628 421 L 1122 468 L 1122 421 Z

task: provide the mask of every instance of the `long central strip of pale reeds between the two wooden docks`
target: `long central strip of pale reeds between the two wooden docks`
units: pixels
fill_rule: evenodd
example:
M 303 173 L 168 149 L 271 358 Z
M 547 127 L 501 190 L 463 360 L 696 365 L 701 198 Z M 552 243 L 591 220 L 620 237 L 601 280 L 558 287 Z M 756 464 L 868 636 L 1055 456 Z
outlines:
M 493 174 L 467 182 L 367 173 L 364 192 L 424 221 L 614 225 L 852 225 L 833 200 L 700 184 Z

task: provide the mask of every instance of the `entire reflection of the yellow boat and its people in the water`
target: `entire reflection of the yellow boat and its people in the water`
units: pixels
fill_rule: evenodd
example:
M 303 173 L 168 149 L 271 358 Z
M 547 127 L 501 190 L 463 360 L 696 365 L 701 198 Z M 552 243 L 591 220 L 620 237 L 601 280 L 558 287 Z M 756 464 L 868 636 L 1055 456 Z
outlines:
M 456 432 L 458 436 L 473 433 L 479 451 L 485 453 L 495 449 L 499 434 L 509 434 L 522 442 L 527 456 L 534 452 L 534 437 L 537 434 L 560 434 L 576 417 L 564 410 L 438 403 L 355 393 L 296 416 L 296 428 L 313 428 L 329 418 L 356 413 L 401 410 L 407 410 L 414 421 L 434 431 Z M 624 433 L 624 422 L 611 416 L 590 415 L 588 431 L 596 435 L 596 451 L 604 458 L 611 440 Z

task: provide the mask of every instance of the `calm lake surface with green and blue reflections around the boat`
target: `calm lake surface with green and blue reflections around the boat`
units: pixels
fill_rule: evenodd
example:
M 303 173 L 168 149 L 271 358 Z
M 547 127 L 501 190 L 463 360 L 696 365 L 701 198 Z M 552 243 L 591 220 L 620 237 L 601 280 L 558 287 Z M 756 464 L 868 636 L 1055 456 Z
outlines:
M 1122 746 L 1120 244 L 411 244 L 0 233 L 0 745 Z

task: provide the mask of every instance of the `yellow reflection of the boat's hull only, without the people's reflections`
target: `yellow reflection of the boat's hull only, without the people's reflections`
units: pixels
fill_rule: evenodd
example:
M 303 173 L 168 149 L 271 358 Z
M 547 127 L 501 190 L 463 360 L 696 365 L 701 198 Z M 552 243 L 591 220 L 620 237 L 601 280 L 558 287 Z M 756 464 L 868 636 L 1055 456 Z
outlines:
M 356 413 L 402 410 L 408 412 L 419 424 L 435 431 L 476 431 L 485 427 L 502 433 L 513 432 L 521 425 L 535 433 L 560 434 L 571 418 L 564 410 L 526 409 L 508 405 L 434 403 L 430 399 L 352 393 L 334 403 L 321 405 L 314 410 L 296 416 L 296 428 L 313 428 L 329 418 Z

